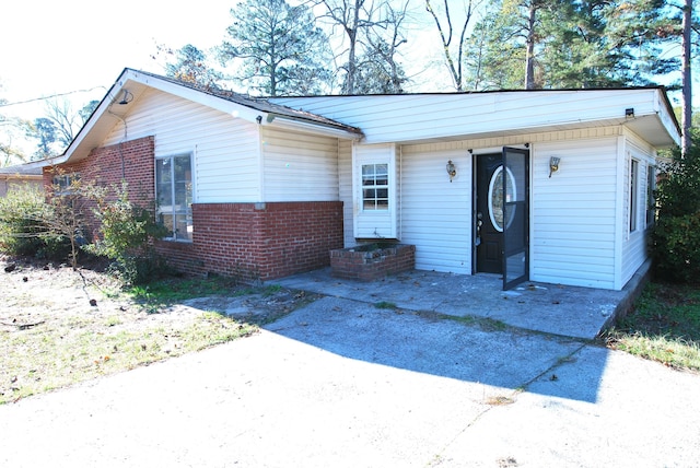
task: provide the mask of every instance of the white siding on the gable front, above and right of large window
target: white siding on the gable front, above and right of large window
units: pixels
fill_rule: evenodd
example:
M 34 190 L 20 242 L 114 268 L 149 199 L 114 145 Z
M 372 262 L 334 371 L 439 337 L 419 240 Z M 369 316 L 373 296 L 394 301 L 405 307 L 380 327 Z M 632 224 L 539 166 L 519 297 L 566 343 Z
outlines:
M 155 136 L 155 156 L 194 152 L 194 200 L 261 200 L 258 126 L 171 94 L 149 90 L 127 116 L 126 140 Z M 118 122 L 104 144 L 125 141 Z

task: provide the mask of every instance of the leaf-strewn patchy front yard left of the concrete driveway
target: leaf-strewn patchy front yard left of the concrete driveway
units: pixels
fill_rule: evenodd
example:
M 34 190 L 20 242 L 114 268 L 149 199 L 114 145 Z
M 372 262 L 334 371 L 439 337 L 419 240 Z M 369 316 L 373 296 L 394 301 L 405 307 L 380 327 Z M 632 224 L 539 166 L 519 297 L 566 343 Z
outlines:
M 95 269 L 8 258 L 0 282 L 0 403 L 248 336 L 319 297 L 225 279 L 133 295 Z

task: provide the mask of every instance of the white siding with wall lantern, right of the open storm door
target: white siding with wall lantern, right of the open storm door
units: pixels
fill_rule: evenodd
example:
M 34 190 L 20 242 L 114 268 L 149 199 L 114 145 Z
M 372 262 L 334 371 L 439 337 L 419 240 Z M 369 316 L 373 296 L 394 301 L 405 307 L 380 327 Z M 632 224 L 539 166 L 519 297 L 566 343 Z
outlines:
M 549 159 L 560 157 L 549 177 Z M 540 143 L 532 152 L 530 279 L 614 289 L 617 139 Z

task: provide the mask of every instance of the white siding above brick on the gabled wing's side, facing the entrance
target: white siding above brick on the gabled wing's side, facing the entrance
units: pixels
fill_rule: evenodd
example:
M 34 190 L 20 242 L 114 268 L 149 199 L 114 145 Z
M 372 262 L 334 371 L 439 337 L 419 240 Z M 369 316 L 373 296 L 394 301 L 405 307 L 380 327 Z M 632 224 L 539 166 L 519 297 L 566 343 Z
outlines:
M 337 201 L 338 139 L 267 127 L 264 201 Z

